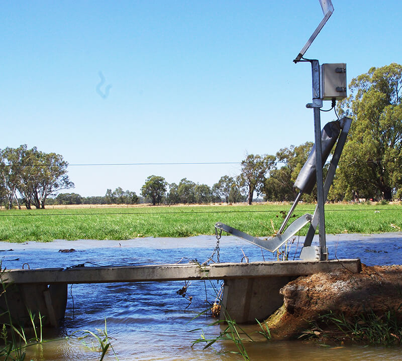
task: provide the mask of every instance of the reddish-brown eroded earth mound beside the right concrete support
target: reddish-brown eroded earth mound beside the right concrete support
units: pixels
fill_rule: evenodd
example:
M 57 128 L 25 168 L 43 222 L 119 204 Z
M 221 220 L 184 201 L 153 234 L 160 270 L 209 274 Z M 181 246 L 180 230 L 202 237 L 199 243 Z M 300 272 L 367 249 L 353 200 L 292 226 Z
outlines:
M 402 317 L 402 266 L 366 266 L 360 273 L 346 268 L 298 277 L 281 288 L 283 305 L 267 320 L 274 337 L 297 336 L 319 315 L 363 311 L 381 315 L 395 310 Z

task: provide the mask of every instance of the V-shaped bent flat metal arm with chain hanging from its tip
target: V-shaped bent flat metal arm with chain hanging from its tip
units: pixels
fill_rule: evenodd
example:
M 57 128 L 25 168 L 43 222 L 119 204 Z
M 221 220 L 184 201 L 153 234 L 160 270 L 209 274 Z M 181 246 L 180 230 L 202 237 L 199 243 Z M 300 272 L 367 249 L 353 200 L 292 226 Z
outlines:
M 215 228 L 225 231 L 233 236 L 244 239 L 247 242 L 250 242 L 258 247 L 264 248 L 269 252 L 275 252 L 281 245 L 283 245 L 290 237 L 294 236 L 300 229 L 306 226 L 308 223 L 311 223 L 313 216 L 309 213 L 306 213 L 302 217 L 297 218 L 294 222 L 291 223 L 289 227 L 287 227 L 286 231 L 283 234 L 277 234 L 274 237 L 260 239 L 257 237 L 253 237 L 247 233 L 237 230 L 236 228 L 230 227 L 222 222 L 217 222 L 215 224 Z

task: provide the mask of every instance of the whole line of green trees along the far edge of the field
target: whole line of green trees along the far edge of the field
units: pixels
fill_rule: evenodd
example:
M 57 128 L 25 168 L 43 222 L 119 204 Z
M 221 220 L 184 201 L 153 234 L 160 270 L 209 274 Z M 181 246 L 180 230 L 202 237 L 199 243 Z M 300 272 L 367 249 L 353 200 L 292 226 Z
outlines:
M 352 79 L 350 95 L 340 101 L 340 115 L 353 119 L 339 162 L 329 201 L 359 198 L 391 200 L 402 198 L 402 66 L 392 63 L 370 68 Z M 13 202 L 44 208 L 45 204 L 206 204 L 253 201 L 254 194 L 265 201 L 292 201 L 298 192 L 294 181 L 307 160 L 312 142 L 290 145 L 269 154 L 247 154 L 238 176 L 222 176 L 209 187 L 187 178 L 168 184 L 160 175 L 150 175 L 141 195 L 117 188 L 105 196 L 81 197 L 63 193 L 72 188 L 67 162 L 55 153 L 44 153 L 27 145 L 0 150 L 0 198 L 12 207 Z M 280 167 L 278 166 L 280 165 Z M 324 166 L 324 176 L 328 164 Z M 306 202 L 316 200 L 316 188 L 304 194 Z

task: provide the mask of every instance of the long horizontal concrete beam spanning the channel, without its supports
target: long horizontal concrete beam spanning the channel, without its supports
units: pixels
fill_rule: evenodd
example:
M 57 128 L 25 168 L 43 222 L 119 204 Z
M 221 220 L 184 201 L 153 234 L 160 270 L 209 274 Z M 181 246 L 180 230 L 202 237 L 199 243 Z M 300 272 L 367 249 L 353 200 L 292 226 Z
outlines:
M 171 264 L 121 267 L 44 268 L 31 270 L 5 270 L 1 279 L 6 283 L 113 283 L 150 282 L 196 279 L 230 279 L 300 276 L 327 272 L 347 267 L 359 272 L 359 259 L 332 261 L 283 261 L 250 263 L 214 263 L 201 267 L 197 264 Z

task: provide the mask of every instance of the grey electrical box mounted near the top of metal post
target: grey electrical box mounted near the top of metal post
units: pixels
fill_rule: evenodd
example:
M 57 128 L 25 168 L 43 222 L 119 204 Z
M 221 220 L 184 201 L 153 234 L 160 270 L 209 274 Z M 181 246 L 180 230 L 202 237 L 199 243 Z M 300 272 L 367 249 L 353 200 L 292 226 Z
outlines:
M 346 98 L 346 64 L 321 65 L 321 99 L 341 100 Z

